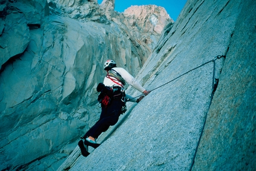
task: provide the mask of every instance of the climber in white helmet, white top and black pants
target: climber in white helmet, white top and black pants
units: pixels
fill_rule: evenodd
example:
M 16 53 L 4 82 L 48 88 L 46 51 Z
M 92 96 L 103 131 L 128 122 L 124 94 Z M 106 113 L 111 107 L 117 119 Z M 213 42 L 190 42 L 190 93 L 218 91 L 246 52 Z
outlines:
M 104 64 L 104 70 L 107 75 L 103 83 L 99 83 L 97 91 L 101 92 L 98 96 L 98 101 L 101 103 L 101 116 L 86 134 L 81 137 L 78 145 L 83 156 L 88 156 L 88 145 L 97 148 L 100 144 L 96 144 L 96 138 L 102 132 L 107 131 L 110 126 L 117 123 L 119 116 L 126 111 L 126 102 L 139 103 L 143 97 L 148 95 L 150 91 L 145 90 L 135 78 L 129 74 L 125 69 L 116 67 L 113 60 L 108 60 Z M 142 96 L 139 99 L 133 98 L 124 92 L 124 84 L 132 85 L 138 91 L 141 91 Z M 144 96 L 145 95 L 145 96 Z

